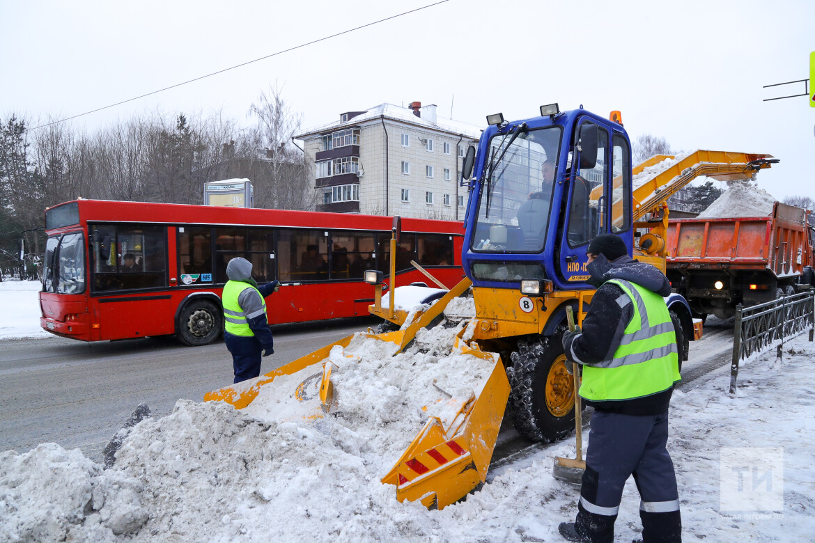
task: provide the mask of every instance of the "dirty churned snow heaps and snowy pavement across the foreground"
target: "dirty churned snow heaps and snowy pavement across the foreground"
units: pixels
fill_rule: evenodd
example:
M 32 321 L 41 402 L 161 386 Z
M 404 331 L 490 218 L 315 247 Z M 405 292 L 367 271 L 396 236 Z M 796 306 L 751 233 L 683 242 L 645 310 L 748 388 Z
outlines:
M 561 541 L 557 523 L 575 514 L 577 489 L 553 480 L 551 469 L 553 456 L 574 454 L 567 442 L 502 468 L 440 511 L 399 503 L 394 487 L 380 483 L 421 427 L 425 396 L 437 386 L 466 395 L 485 371 L 436 330 L 396 357 L 362 337 L 333 353 L 333 417 L 306 422 L 271 394 L 244 411 L 178 401 L 172 414 L 134 427 L 107 471 L 56 444 L 0 453 L 0 541 Z M 787 344 L 783 363 L 773 356 L 743 368 L 735 397 L 727 375 L 676 392 L 669 450 L 685 541 L 811 540 L 813 356 L 801 336 Z M 752 459 L 738 473 L 760 483 L 742 480 L 742 491 L 761 491 L 768 480 L 778 491 L 782 481 L 780 506 L 772 493 L 752 492 L 763 501 L 745 510 L 744 492 L 720 493 L 720 475 L 729 484 L 734 467 L 745 467 L 720 467 L 720 458 L 733 458 L 726 448 L 738 447 L 782 449 L 772 476 L 756 449 L 735 455 Z M 728 510 L 734 504 L 742 509 Z M 638 535 L 638 506 L 629 481 L 619 541 Z

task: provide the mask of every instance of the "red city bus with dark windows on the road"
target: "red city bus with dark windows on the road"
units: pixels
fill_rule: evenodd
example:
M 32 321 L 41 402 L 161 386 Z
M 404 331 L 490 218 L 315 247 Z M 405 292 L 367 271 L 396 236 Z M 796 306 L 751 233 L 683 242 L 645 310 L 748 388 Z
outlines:
M 82 341 L 174 334 L 209 344 L 222 331 L 227 262 L 280 280 L 269 324 L 368 314 L 365 269 L 390 266 L 392 217 L 78 199 L 46 209 L 40 325 Z M 397 286 L 463 277 L 460 222 L 404 218 Z

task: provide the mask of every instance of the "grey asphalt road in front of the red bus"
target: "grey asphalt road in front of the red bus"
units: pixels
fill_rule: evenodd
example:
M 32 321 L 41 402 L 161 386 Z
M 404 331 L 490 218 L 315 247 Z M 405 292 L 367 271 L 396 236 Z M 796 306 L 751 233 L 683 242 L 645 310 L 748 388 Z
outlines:
M 261 373 L 375 323 L 370 317 L 275 327 L 275 353 Z M 222 341 L 184 347 L 171 338 L 85 344 L 73 339 L 0 341 L 0 451 L 24 453 L 55 442 L 102 461 L 102 449 L 136 405 L 154 417 L 179 398 L 202 401 L 231 384 L 232 359 Z

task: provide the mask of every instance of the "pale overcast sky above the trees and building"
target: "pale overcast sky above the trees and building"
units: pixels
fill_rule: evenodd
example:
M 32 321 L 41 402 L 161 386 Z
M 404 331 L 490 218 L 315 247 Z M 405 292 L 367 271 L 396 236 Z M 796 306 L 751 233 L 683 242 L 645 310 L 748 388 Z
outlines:
M 73 116 L 430 3 L 0 0 L 0 116 Z M 774 155 L 760 186 L 815 197 L 815 107 L 762 101 L 803 93 L 762 86 L 809 77 L 813 50 L 812 0 L 449 0 L 72 122 L 93 131 L 156 109 L 248 122 L 273 81 L 304 128 L 383 102 L 474 125 L 583 104 L 621 110 L 632 140 Z

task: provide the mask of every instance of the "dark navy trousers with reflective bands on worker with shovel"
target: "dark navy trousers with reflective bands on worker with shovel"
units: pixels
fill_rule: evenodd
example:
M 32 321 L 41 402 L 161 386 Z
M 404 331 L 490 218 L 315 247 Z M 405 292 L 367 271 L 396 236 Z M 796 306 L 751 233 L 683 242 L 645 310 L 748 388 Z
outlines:
M 614 523 L 629 475 L 634 475 L 640 491 L 644 543 L 682 541 L 676 474 L 666 442 L 667 411 L 659 415 L 594 412 L 575 520 L 575 530 L 586 541 L 614 541 Z

